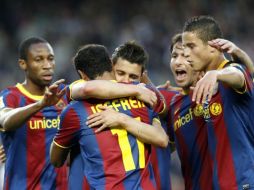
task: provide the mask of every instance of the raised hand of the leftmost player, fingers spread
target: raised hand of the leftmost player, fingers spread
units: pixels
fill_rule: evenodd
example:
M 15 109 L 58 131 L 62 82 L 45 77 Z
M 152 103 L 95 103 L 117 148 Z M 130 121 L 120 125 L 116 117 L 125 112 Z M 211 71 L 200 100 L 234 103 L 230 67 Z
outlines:
M 44 97 L 39 102 L 41 107 L 47 107 L 47 106 L 55 105 L 62 98 L 62 96 L 65 94 L 66 89 L 64 88 L 62 90 L 59 90 L 58 87 L 64 81 L 65 81 L 64 79 L 60 79 L 60 80 L 54 82 L 49 87 L 46 87 Z

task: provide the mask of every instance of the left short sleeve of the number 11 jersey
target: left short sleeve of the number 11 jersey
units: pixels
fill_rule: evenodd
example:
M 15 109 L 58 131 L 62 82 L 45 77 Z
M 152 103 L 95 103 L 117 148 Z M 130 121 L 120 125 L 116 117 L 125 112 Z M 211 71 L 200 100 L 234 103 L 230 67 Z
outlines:
M 71 105 L 60 116 L 60 126 L 54 143 L 61 148 L 70 148 L 78 143 L 80 137 L 79 117 Z

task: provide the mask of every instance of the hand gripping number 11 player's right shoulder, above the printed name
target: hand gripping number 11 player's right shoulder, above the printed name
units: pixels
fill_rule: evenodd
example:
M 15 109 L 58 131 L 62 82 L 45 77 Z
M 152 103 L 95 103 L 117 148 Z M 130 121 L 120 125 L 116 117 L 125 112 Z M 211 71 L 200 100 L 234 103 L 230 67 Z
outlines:
M 156 93 L 146 88 L 144 83 L 140 83 L 137 86 L 139 87 L 138 88 L 139 95 L 136 96 L 137 99 L 149 104 L 151 107 L 154 107 L 157 103 Z

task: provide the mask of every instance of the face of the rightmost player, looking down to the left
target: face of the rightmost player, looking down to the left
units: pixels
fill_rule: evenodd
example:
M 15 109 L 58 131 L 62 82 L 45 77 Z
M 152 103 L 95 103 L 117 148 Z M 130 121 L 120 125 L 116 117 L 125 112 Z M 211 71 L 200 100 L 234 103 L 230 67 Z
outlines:
M 187 61 L 195 71 L 205 70 L 211 60 L 210 46 L 193 32 L 184 32 L 182 39 Z

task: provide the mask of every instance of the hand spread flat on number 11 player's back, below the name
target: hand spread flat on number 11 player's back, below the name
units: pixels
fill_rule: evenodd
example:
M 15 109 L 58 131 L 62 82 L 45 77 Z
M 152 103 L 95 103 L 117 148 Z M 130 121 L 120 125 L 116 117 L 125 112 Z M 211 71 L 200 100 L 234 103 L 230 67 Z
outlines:
M 95 132 L 98 133 L 105 128 L 113 128 L 120 126 L 121 113 L 105 106 L 100 106 L 99 109 L 102 111 L 92 114 L 87 118 L 86 125 L 88 127 L 100 126 L 98 129 L 95 130 Z

